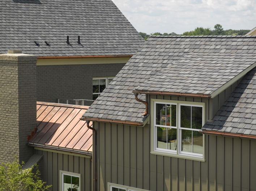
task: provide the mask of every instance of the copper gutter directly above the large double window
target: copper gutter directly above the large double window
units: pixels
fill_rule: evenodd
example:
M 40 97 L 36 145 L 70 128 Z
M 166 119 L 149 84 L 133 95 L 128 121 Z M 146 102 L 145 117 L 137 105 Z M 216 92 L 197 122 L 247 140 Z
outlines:
M 152 94 L 152 95 L 176 95 L 179 97 L 200 97 L 200 98 L 211 98 L 209 94 L 189 94 L 189 93 L 175 93 L 175 92 L 143 92 L 143 91 L 132 91 L 134 94 Z

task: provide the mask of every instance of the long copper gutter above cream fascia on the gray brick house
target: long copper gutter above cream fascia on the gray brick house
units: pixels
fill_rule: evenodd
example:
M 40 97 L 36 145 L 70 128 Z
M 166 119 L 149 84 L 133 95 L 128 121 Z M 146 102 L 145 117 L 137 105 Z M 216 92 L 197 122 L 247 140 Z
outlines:
M 38 56 L 37 59 L 64 59 L 64 58 L 131 58 L 133 55 L 85 55 L 85 56 Z

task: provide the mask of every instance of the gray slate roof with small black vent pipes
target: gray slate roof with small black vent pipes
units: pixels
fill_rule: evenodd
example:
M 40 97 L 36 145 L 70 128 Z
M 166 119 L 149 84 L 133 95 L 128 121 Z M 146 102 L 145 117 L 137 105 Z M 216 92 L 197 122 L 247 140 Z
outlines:
M 133 55 L 144 43 L 111 0 L 0 0 L 0 34 L 1 54 Z

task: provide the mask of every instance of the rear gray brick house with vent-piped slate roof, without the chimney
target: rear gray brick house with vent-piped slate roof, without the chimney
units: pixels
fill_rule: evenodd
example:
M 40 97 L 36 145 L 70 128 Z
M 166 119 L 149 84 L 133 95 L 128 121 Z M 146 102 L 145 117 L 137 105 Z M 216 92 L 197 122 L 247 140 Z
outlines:
M 0 14 L 0 54 L 37 56 L 38 101 L 96 99 L 144 42 L 111 0 L 0 0 Z

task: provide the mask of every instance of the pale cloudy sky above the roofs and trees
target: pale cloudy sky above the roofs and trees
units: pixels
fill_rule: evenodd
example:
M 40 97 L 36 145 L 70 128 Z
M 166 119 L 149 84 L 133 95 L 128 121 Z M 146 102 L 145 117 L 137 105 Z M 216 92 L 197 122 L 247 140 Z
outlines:
M 183 34 L 220 24 L 224 30 L 256 27 L 256 0 L 112 0 L 138 32 Z

